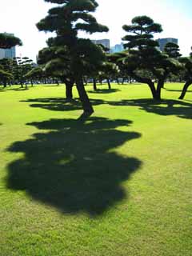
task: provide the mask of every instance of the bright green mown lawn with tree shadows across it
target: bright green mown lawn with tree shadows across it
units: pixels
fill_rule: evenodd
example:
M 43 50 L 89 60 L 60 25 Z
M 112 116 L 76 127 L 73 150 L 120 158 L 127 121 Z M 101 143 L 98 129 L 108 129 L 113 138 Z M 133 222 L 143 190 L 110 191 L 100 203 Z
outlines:
M 0 90 L 1 256 L 191 255 L 192 91 L 112 86 Z

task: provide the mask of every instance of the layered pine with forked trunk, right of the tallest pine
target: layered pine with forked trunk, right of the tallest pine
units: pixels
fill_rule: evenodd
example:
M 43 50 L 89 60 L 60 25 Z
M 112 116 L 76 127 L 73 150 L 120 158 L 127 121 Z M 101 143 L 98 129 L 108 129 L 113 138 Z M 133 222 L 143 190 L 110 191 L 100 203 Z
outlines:
M 122 39 L 126 41 L 124 46 L 128 50 L 125 63 L 129 66 L 130 76 L 138 82 L 146 83 L 153 98 L 160 100 L 166 78 L 171 72 L 177 72 L 181 66 L 175 58 L 170 58 L 168 54 L 158 50 L 154 34 L 162 32 L 162 26 L 150 17 L 138 16 L 133 18 L 131 25 L 123 26 L 123 29 L 128 33 Z M 154 79 L 158 82 L 157 88 Z

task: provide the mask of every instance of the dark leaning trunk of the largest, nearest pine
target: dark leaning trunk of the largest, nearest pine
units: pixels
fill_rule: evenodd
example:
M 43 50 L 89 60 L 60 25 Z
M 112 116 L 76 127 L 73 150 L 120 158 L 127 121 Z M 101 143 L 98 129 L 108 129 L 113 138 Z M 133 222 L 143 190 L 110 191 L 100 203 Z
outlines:
M 83 85 L 82 78 L 76 78 L 76 86 L 77 86 L 79 98 L 82 102 L 83 114 L 81 118 L 88 118 L 91 114 L 94 113 L 94 109 L 90 103 L 90 99 L 88 95 L 86 94 L 86 90 Z

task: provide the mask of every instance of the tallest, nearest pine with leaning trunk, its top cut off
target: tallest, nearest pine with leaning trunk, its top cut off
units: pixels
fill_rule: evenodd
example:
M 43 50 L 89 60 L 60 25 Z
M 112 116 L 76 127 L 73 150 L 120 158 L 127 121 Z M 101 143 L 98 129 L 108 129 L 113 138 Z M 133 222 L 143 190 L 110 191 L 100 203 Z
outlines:
M 98 7 L 95 0 L 45 0 L 58 4 L 49 10 L 48 16 L 38 22 L 38 30 L 56 32 L 52 46 L 66 47 L 70 56 L 70 72 L 74 76 L 84 116 L 94 112 L 83 84 L 83 77 L 97 70 L 104 60 L 99 46 L 90 39 L 78 38 L 78 31 L 89 34 L 106 32 L 108 28 L 98 24 L 90 12 Z

